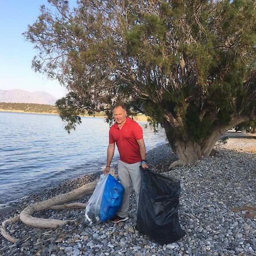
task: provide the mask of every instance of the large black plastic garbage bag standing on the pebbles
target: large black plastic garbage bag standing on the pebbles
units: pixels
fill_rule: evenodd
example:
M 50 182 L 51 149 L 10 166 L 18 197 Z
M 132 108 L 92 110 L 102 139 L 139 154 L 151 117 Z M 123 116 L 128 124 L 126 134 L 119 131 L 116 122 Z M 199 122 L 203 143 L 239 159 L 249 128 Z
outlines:
M 179 240 L 185 235 L 178 216 L 180 181 L 150 169 L 141 173 L 137 229 L 162 245 Z

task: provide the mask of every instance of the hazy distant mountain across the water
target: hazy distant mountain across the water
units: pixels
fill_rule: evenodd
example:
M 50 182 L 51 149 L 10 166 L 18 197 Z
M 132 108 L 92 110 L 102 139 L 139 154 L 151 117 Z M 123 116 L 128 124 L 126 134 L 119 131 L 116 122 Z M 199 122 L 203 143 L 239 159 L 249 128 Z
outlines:
M 26 90 L 0 90 L 0 102 L 35 103 L 55 105 L 57 98 L 47 92 L 27 92 Z

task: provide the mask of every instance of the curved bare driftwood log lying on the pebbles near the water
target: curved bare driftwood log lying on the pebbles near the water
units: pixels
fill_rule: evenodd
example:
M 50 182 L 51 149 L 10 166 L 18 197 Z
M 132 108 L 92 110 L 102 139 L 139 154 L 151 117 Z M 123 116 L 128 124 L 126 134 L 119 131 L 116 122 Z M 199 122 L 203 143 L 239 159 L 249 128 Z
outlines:
M 60 194 L 60 195 L 51 197 L 50 199 L 47 199 L 45 201 L 28 205 L 28 207 L 22 210 L 22 212 L 20 212 L 20 214 L 18 214 L 17 216 L 13 218 L 8 218 L 7 220 L 2 222 L 2 225 L 0 228 L 2 236 L 13 243 L 18 241 L 18 239 L 11 237 L 7 233 L 6 225 L 19 220 L 22 221 L 24 224 L 28 226 L 33 226 L 35 228 L 52 228 L 52 229 L 56 229 L 59 226 L 75 221 L 75 220 L 64 221 L 64 220 L 56 220 L 56 219 L 48 219 L 48 218 L 36 218 L 36 217 L 33 217 L 32 214 L 34 212 L 39 212 L 40 210 L 46 210 L 46 209 L 55 209 L 55 210 L 68 209 L 68 208 L 84 209 L 86 207 L 86 204 L 82 204 L 82 203 L 66 204 L 66 203 L 69 201 L 81 199 L 82 197 L 87 195 L 91 195 L 94 191 L 94 188 L 96 187 L 97 181 L 98 180 L 96 179 L 68 193 Z

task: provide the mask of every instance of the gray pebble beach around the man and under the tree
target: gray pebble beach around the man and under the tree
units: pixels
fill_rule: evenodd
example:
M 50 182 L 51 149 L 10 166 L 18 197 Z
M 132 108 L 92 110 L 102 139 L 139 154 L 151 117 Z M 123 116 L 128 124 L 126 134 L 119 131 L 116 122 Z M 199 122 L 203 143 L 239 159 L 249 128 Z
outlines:
M 36 229 L 18 221 L 7 226 L 18 242 L 1 237 L 0 255 L 256 255 L 256 148 L 254 138 L 229 138 L 216 144 L 217 154 L 168 171 L 177 156 L 168 144 L 147 152 L 150 168 L 181 181 L 179 217 L 186 235 L 160 245 L 135 229 L 136 200 L 131 194 L 129 220 L 85 226 L 84 210 L 43 210 L 35 217 L 75 219 L 57 229 Z M 0 221 L 28 204 L 80 187 L 98 174 L 64 181 L 11 203 Z M 81 199 L 86 203 L 89 196 Z

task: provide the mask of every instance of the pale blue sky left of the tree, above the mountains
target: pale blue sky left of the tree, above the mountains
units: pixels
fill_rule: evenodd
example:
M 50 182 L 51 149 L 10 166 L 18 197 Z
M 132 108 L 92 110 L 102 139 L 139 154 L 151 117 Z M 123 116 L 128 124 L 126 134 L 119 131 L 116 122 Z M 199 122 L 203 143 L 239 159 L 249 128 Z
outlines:
M 22 33 L 35 22 L 41 5 L 47 0 L 7 0 L 0 5 L 0 89 L 23 89 L 28 92 L 46 91 L 56 98 L 65 95 L 58 81 L 35 73 L 31 61 L 36 55 L 34 46 L 25 41 Z

